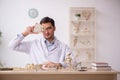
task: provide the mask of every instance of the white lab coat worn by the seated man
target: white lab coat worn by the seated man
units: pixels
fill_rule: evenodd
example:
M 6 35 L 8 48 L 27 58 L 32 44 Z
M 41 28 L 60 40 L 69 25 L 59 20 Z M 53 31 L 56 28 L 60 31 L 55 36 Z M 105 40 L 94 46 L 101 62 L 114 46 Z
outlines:
M 51 61 L 61 63 L 65 67 L 64 60 L 67 54 L 72 54 L 70 48 L 57 38 L 54 40 L 54 49 L 48 50 L 44 37 L 33 41 L 24 41 L 22 34 L 17 35 L 11 40 L 9 47 L 15 51 L 27 53 L 33 64 L 43 64 L 44 62 Z

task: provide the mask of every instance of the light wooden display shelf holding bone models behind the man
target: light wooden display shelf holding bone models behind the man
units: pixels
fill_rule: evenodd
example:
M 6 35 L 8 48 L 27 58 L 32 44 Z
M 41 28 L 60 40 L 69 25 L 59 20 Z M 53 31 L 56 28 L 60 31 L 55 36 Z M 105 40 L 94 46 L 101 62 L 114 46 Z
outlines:
M 70 46 L 77 62 L 90 67 L 96 54 L 94 7 L 70 8 Z

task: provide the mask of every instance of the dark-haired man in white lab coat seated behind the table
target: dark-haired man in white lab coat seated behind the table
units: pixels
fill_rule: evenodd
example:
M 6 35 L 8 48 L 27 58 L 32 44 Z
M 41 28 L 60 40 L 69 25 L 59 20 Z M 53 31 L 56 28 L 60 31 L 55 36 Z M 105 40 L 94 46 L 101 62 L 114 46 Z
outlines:
M 70 48 L 60 42 L 55 36 L 55 22 L 52 18 L 44 17 L 40 21 L 44 28 L 43 36 L 37 40 L 24 41 L 30 34 L 36 34 L 33 30 L 35 26 L 29 26 L 24 32 L 18 34 L 10 43 L 9 47 L 13 50 L 25 52 L 30 55 L 33 64 L 44 64 L 46 67 L 66 67 L 64 63 L 68 54 L 73 56 Z

